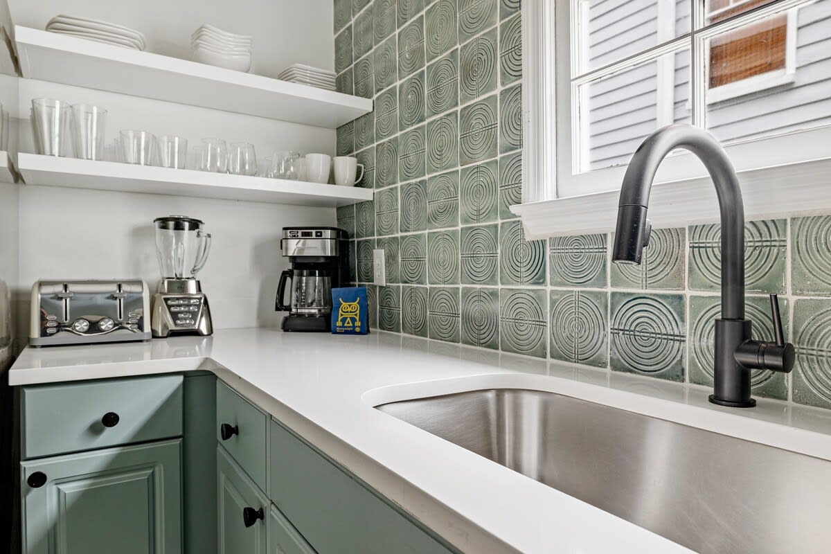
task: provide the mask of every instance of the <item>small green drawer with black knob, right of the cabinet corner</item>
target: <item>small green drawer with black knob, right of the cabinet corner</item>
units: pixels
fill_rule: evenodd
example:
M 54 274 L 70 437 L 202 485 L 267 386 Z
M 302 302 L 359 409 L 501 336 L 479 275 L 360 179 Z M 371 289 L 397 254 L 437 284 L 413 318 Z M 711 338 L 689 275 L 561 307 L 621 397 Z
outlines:
M 263 490 L 266 490 L 267 422 L 266 415 L 248 400 L 222 381 L 216 382 L 216 439 Z

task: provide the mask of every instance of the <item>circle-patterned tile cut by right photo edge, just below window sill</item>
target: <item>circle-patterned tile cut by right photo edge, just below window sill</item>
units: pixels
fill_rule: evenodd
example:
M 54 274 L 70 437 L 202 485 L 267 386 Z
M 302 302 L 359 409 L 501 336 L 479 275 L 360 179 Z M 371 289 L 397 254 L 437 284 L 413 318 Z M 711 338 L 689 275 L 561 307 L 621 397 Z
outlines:
M 794 294 L 831 295 L 831 215 L 790 222 Z

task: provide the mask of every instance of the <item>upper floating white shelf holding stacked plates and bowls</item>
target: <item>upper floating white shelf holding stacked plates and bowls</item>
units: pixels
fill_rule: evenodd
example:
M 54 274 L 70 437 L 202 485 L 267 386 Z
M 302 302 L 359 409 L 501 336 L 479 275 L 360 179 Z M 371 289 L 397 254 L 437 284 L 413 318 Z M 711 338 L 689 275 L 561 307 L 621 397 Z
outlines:
M 314 86 L 14 27 L 24 77 L 336 129 L 372 101 Z

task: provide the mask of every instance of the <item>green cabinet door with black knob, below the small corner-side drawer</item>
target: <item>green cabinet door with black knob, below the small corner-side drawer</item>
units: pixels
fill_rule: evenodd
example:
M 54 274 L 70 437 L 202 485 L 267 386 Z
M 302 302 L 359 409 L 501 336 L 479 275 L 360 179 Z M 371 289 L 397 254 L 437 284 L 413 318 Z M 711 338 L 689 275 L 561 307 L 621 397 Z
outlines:
M 221 446 L 216 469 L 219 554 L 266 554 L 268 498 Z

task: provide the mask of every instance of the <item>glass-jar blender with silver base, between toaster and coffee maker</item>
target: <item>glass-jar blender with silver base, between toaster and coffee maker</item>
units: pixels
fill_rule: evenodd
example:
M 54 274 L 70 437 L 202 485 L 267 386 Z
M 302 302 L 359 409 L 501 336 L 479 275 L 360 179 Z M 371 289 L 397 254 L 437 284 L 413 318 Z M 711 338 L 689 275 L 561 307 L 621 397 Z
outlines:
M 150 327 L 153 336 L 210 335 L 208 299 L 196 274 L 210 252 L 204 223 L 184 215 L 155 218 L 156 253 L 161 282 L 153 297 Z

